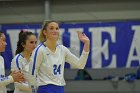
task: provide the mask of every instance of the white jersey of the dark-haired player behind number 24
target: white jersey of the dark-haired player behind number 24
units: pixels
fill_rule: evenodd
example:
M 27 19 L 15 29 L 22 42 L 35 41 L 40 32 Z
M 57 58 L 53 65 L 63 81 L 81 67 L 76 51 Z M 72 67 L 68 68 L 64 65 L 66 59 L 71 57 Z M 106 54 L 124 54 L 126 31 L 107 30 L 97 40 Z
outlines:
M 14 70 L 21 70 L 21 72 L 24 74 L 25 78 L 27 79 L 27 75 L 29 72 L 29 62 L 21 55 L 17 54 L 11 63 L 11 71 Z M 28 82 L 25 83 L 18 83 L 15 82 L 15 90 L 14 93 L 31 93 L 31 88 L 28 85 Z

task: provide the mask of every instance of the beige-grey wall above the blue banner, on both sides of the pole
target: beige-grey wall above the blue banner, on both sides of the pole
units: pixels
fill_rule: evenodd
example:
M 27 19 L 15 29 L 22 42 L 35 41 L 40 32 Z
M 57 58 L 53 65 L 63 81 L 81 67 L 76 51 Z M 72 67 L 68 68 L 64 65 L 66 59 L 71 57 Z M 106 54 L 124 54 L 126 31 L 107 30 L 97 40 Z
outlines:
M 140 0 L 50 0 L 51 18 L 59 21 L 140 19 Z M 44 0 L 0 1 L 0 23 L 44 20 Z

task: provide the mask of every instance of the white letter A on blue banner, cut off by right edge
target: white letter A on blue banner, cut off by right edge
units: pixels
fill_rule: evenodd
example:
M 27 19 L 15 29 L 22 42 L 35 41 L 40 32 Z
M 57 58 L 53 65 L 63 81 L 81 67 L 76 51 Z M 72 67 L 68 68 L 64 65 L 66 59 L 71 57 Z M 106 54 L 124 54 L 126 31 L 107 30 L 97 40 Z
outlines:
M 130 47 L 130 52 L 127 59 L 126 67 L 131 67 L 132 61 L 140 62 L 140 26 L 132 26 L 132 31 L 134 31 L 134 36 L 132 39 L 132 44 Z M 137 55 L 134 54 L 134 50 L 136 50 Z

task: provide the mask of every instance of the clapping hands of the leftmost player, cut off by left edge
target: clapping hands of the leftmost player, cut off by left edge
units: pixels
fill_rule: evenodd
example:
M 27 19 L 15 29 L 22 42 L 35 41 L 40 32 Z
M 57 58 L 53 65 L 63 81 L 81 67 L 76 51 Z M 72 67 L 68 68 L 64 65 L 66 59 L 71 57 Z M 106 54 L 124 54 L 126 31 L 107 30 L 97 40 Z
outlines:
M 25 82 L 25 78 L 21 71 L 12 71 L 11 76 L 14 79 L 14 82 Z

